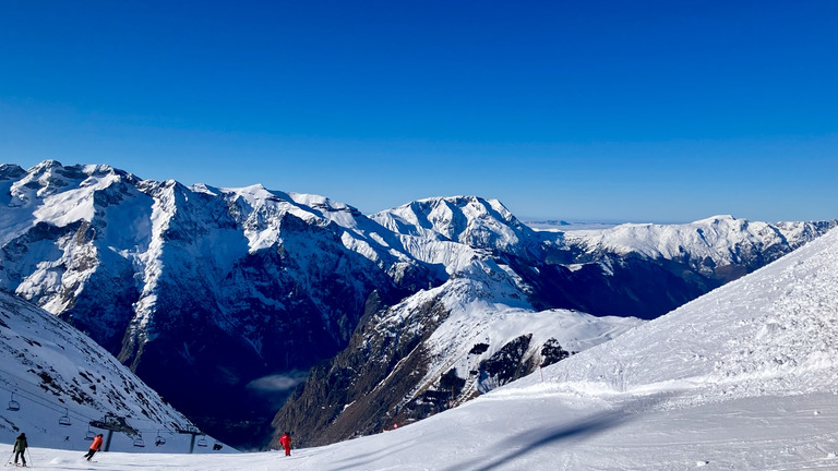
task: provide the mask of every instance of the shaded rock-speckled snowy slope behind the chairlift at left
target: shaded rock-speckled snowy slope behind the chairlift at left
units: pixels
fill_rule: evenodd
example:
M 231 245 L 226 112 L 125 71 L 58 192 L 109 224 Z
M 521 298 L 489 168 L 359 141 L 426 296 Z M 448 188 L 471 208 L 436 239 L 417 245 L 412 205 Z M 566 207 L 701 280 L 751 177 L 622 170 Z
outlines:
M 84 450 L 93 434 L 109 433 L 94 422 L 119 428 L 111 450 L 189 451 L 192 435 L 179 431 L 197 428 L 185 416 L 91 338 L 8 293 L 0 359 L 0 442 L 25 433 L 33 445 Z M 155 446 L 158 437 L 165 444 Z

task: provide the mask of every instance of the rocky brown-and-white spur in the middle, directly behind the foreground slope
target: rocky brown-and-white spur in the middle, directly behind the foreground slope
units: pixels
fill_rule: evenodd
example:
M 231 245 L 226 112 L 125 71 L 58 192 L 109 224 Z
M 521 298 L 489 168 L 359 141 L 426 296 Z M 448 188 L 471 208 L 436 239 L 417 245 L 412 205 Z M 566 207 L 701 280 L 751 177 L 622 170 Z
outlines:
M 490 263 L 375 311 L 314 367 L 274 419 L 308 446 L 390 430 L 451 409 L 639 325 L 635 317 L 536 312 Z

